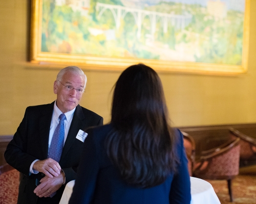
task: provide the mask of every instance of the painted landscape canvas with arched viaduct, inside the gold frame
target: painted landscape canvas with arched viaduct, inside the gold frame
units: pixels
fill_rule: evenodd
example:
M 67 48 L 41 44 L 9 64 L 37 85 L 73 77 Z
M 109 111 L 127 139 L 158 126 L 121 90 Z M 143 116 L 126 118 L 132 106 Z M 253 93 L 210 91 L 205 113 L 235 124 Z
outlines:
M 42 0 L 41 52 L 241 65 L 245 0 Z

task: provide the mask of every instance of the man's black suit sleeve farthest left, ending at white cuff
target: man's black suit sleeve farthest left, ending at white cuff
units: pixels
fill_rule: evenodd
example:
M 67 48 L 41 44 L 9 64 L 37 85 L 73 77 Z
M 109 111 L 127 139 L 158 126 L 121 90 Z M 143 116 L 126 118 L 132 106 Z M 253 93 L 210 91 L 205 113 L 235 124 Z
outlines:
M 38 159 L 26 153 L 28 118 L 29 108 L 26 109 L 24 118 L 5 151 L 5 160 L 7 163 L 25 175 L 29 175 L 30 165 L 34 160 Z

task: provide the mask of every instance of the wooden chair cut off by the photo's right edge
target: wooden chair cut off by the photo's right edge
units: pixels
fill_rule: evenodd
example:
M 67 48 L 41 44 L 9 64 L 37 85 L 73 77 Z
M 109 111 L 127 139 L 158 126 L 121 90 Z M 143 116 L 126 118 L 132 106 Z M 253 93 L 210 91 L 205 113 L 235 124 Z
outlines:
M 231 139 L 240 138 L 240 167 L 256 165 L 256 139 L 251 138 L 238 130 L 229 129 Z M 255 170 L 256 172 L 256 170 Z

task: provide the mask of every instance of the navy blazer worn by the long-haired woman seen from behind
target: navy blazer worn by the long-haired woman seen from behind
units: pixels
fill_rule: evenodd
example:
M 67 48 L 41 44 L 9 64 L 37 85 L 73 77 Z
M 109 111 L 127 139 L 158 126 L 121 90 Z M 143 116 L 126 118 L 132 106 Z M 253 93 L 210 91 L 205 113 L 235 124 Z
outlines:
M 71 204 L 189 204 L 190 177 L 183 146 L 183 136 L 176 130 L 176 154 L 179 159 L 177 173 L 171 173 L 164 183 L 152 188 L 136 188 L 120 179 L 104 147 L 104 138 L 112 130 L 112 125 L 104 125 L 88 130 L 84 149 L 77 170 L 77 180 L 69 200 Z

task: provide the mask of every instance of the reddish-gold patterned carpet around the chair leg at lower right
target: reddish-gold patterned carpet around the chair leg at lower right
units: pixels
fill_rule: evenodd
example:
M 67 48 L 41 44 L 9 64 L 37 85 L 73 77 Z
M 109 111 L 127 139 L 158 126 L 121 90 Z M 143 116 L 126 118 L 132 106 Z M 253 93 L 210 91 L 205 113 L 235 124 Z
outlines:
M 238 175 L 232 181 L 233 202 L 230 202 L 227 181 L 207 180 L 220 199 L 221 204 L 256 203 L 256 175 Z

